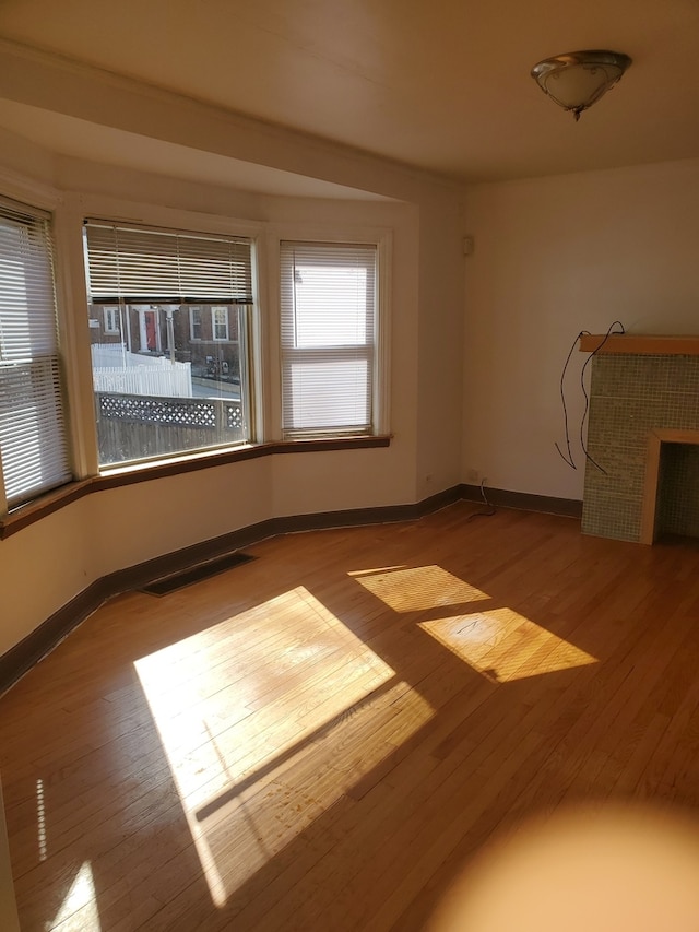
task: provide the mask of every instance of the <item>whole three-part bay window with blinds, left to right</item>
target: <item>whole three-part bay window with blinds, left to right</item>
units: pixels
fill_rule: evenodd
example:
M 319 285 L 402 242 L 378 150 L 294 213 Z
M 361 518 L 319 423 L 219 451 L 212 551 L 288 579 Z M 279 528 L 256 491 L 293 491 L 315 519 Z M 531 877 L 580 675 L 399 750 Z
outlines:
M 73 477 L 49 220 L 0 200 L 0 517 Z M 259 337 L 275 323 L 253 317 L 251 239 L 103 219 L 83 236 L 99 472 L 270 437 L 388 433 L 388 236 L 280 243 L 279 357 Z M 253 412 L 251 371 L 261 389 L 271 373 L 279 405 Z M 80 400 L 72 415 L 88 436 Z

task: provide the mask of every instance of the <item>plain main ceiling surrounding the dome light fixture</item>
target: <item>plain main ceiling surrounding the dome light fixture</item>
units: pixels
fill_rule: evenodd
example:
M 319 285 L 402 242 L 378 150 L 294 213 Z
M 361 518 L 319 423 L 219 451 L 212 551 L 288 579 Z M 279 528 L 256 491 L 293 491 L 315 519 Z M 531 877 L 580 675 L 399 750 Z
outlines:
M 465 181 L 699 156 L 697 0 L 0 0 L 0 35 Z M 582 48 L 633 64 L 576 123 L 529 72 Z M 57 150 L 63 119 L 0 102 Z

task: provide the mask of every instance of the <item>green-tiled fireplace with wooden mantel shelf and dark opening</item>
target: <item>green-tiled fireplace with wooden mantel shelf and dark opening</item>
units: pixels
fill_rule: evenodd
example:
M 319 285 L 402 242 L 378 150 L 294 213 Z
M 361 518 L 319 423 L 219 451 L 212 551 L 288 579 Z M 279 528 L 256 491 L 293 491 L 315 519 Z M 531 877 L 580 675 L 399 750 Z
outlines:
M 613 337 L 591 368 L 588 451 L 605 472 L 587 463 L 583 532 L 699 538 L 699 338 Z

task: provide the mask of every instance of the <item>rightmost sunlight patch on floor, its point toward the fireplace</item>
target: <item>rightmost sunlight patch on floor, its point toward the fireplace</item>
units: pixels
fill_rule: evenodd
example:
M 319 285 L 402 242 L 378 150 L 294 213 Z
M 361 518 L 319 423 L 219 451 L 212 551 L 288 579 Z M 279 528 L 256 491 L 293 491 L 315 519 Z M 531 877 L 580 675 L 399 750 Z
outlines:
M 498 683 L 597 662 L 592 654 L 512 609 L 437 618 L 422 622 L 419 627 Z

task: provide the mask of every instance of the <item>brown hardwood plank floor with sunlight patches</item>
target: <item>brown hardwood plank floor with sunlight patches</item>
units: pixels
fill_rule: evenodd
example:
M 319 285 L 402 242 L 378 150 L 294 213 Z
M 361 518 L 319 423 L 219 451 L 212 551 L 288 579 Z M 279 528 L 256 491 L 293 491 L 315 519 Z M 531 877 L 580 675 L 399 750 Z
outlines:
M 494 833 L 699 802 L 699 550 L 460 504 L 112 600 L 0 700 L 22 929 L 417 930 Z

